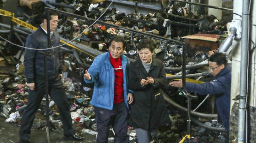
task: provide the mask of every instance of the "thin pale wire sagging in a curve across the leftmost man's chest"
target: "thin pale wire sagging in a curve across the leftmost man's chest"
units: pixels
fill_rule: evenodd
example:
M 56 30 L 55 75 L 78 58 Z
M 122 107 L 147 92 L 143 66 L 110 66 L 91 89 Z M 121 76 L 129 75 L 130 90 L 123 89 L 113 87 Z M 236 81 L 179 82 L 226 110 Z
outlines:
M 108 8 L 109 8 L 110 5 L 113 3 L 113 1 L 114 1 L 114 0 L 111 1 L 111 3 L 108 5 L 108 7 L 106 8 L 106 10 L 100 15 L 100 17 L 99 17 L 98 19 L 96 19 L 96 20 L 95 20 L 88 28 L 86 28 L 86 29 L 91 28 L 91 26 L 93 26 L 93 25 L 105 14 L 105 12 L 108 10 Z M 84 30 L 86 30 L 86 29 L 84 29 Z M 48 49 L 59 48 L 59 47 L 61 47 L 61 46 L 67 45 L 67 44 L 69 44 L 70 42 L 76 40 L 76 38 L 79 37 L 79 36 L 81 36 L 83 33 L 84 33 L 84 31 L 81 32 L 81 34 L 78 34 L 74 39 L 72 39 L 72 40 L 70 40 L 70 41 L 68 41 L 68 42 L 65 42 L 65 43 L 62 44 L 62 45 L 55 46 L 55 47 L 51 47 L 51 48 L 45 48 L 45 49 L 35 49 L 35 48 L 24 47 L 24 46 L 17 45 L 17 44 L 15 44 L 15 43 L 11 42 L 11 41 L 8 41 L 8 40 L 4 39 L 2 36 L 0 36 L 0 38 L 3 39 L 4 41 L 7 41 L 8 43 L 10 43 L 10 44 L 12 44 L 12 45 L 15 45 L 15 46 L 17 46 L 17 47 L 20 47 L 20 48 L 32 49 L 32 50 L 48 50 Z

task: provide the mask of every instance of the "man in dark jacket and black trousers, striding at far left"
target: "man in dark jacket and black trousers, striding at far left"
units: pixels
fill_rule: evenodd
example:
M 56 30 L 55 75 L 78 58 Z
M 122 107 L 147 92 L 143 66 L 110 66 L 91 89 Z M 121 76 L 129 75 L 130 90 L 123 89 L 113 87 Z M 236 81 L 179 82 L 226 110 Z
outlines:
M 31 126 L 45 94 L 44 54 L 41 50 L 34 50 L 48 48 L 46 12 L 42 16 L 43 23 L 36 31 L 28 36 L 26 41 L 26 47 L 33 49 L 26 49 L 24 56 L 25 75 L 27 78 L 26 85 L 29 87 L 29 95 L 28 104 L 23 112 L 20 126 L 20 143 L 30 143 Z M 60 35 L 55 31 L 58 25 L 58 15 L 50 13 L 50 17 L 51 45 L 55 47 L 60 45 Z M 49 94 L 60 112 L 64 136 L 68 139 L 82 140 L 83 138 L 77 136 L 75 130 L 72 128 L 69 104 L 61 82 L 60 48 L 47 49 L 43 50 L 43 52 L 48 52 L 52 55 L 46 57 L 48 61 Z

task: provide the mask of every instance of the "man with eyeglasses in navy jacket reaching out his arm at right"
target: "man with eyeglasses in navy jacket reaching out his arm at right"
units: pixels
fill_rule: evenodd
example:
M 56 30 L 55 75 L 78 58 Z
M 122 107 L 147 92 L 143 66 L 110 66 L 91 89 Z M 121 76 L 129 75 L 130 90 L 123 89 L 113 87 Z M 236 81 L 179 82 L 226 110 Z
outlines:
M 213 80 L 202 84 L 186 82 L 188 92 L 197 92 L 201 95 L 215 94 L 218 115 L 225 130 L 229 132 L 230 115 L 230 88 L 231 88 L 231 66 L 227 64 L 223 53 L 214 53 L 209 57 L 209 70 Z M 182 80 L 170 83 L 172 87 L 182 87 Z M 228 136 L 226 142 L 228 141 Z

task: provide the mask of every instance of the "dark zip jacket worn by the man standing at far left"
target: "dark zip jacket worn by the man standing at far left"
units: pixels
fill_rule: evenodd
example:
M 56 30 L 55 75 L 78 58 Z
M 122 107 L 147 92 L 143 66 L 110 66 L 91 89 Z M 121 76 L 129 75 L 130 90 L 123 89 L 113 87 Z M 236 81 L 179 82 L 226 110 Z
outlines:
M 60 35 L 54 31 L 51 36 L 52 47 L 60 45 Z M 46 49 L 47 34 L 40 26 L 36 31 L 28 35 L 26 47 L 34 49 Z M 24 66 L 25 75 L 28 83 L 33 83 L 35 76 L 44 76 L 44 54 L 42 50 L 25 49 Z M 53 77 L 60 73 L 61 65 L 61 50 L 59 48 L 43 50 L 52 56 L 47 56 L 48 61 L 48 76 Z

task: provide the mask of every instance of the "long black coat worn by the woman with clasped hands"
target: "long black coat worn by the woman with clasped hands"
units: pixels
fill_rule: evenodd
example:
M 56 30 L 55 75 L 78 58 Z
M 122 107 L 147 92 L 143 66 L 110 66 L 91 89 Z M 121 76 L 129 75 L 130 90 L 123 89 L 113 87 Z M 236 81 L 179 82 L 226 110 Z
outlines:
M 147 77 L 152 77 L 154 84 L 142 87 L 140 81 Z M 166 76 L 161 60 L 153 58 L 148 73 L 140 59 L 130 65 L 128 88 L 134 91 L 134 101 L 128 119 L 130 126 L 152 131 L 170 122 L 164 97 L 160 92 L 165 83 Z

